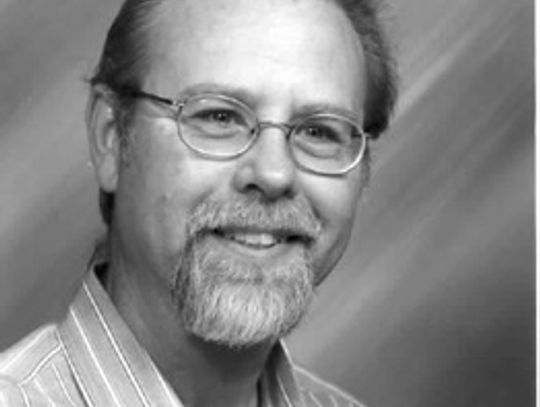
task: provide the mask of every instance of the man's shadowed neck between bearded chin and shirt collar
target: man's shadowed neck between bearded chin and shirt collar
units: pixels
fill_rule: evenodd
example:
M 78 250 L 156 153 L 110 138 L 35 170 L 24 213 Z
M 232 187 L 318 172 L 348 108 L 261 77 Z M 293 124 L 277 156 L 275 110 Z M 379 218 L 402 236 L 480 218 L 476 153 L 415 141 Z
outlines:
M 257 405 L 272 343 L 233 349 L 186 332 L 163 281 L 111 259 L 107 291 L 120 315 L 186 407 Z

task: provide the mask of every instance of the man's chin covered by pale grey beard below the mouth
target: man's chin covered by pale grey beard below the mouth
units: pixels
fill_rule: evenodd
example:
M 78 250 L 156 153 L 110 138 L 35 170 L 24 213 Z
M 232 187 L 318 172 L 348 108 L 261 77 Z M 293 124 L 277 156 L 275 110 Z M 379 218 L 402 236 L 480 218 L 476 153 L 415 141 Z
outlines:
M 261 267 L 194 245 L 174 295 L 187 331 L 212 343 L 250 347 L 276 341 L 302 319 L 313 297 L 306 250 L 286 264 Z

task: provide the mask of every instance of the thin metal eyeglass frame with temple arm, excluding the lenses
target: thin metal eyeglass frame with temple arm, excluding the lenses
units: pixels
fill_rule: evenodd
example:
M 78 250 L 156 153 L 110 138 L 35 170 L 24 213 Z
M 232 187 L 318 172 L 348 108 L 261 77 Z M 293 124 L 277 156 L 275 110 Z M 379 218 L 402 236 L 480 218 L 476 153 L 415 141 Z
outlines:
M 203 92 L 203 93 L 199 93 L 199 94 L 195 94 L 195 95 L 189 95 L 189 96 L 187 96 L 187 97 L 185 97 L 183 99 L 170 99 L 170 98 L 165 98 L 163 96 L 159 96 L 159 95 L 156 95 L 156 94 L 153 94 L 153 93 L 145 92 L 143 90 L 136 89 L 136 88 L 131 87 L 131 86 L 122 86 L 120 88 L 114 88 L 112 90 L 115 93 L 117 93 L 119 95 L 122 95 L 122 96 L 127 96 L 127 97 L 131 97 L 131 98 L 136 98 L 136 99 L 147 99 L 147 100 L 150 100 L 150 101 L 153 101 L 153 102 L 163 103 L 163 104 L 167 105 L 170 109 L 174 110 L 174 115 L 171 118 L 173 118 L 174 121 L 176 122 L 178 137 L 182 140 L 182 142 L 186 146 L 188 146 L 192 151 L 194 151 L 195 153 L 197 153 L 197 154 L 199 154 L 199 155 L 201 155 L 203 157 L 207 157 L 207 158 L 214 159 L 214 160 L 231 160 L 231 159 L 237 158 L 237 157 L 241 156 L 242 154 L 246 153 L 253 146 L 253 144 L 255 144 L 255 141 L 258 139 L 262 129 L 264 129 L 264 128 L 275 127 L 275 128 L 278 128 L 278 129 L 282 130 L 283 133 L 285 134 L 285 138 L 287 139 L 287 143 L 289 143 L 290 136 L 294 132 L 294 130 L 298 127 L 299 123 L 303 123 L 304 121 L 307 121 L 307 119 L 314 118 L 314 117 L 339 119 L 339 120 L 343 120 L 343 121 L 347 122 L 348 124 L 350 124 L 357 131 L 358 135 L 360 137 L 362 137 L 362 146 L 358 150 L 357 156 L 356 156 L 356 158 L 353 160 L 353 162 L 351 164 L 349 164 L 347 167 L 345 167 L 344 169 L 341 169 L 339 171 L 321 171 L 321 170 L 316 170 L 316 169 L 310 168 L 309 166 L 306 166 L 306 165 L 302 164 L 301 162 L 299 162 L 298 159 L 296 158 L 295 154 L 292 153 L 292 151 L 291 151 L 291 153 L 292 153 L 291 156 L 292 156 L 293 161 L 295 162 L 295 164 L 298 167 L 300 167 L 301 169 L 305 170 L 305 171 L 308 171 L 308 172 L 311 172 L 311 173 L 314 173 L 314 174 L 318 174 L 318 175 L 340 176 L 340 175 L 344 175 L 344 174 L 350 172 L 354 167 L 356 167 L 358 164 L 360 164 L 360 162 L 362 161 L 362 158 L 364 157 L 366 149 L 368 148 L 368 140 L 370 139 L 369 134 L 366 133 L 364 131 L 364 129 L 362 128 L 362 126 L 359 125 L 356 121 L 350 119 L 347 116 L 343 116 L 343 115 L 339 115 L 339 114 L 335 114 L 335 113 L 324 113 L 324 112 L 314 113 L 314 114 L 303 116 L 303 117 L 293 121 L 292 123 L 287 123 L 287 122 L 285 122 L 285 123 L 276 123 L 276 122 L 272 122 L 272 121 L 266 121 L 266 120 L 261 121 L 261 120 L 259 120 L 259 117 L 253 111 L 253 109 L 251 107 L 249 107 L 248 105 L 246 105 L 244 102 L 242 102 L 241 100 L 238 100 L 237 98 L 227 96 L 227 95 L 224 95 L 224 94 L 221 94 L 221 93 Z M 233 154 L 209 153 L 208 151 L 203 151 L 203 150 L 200 150 L 200 149 L 194 147 L 182 135 L 182 132 L 180 131 L 180 115 L 182 114 L 182 108 L 191 99 L 201 98 L 201 97 L 204 97 L 204 96 L 218 97 L 219 99 L 226 100 L 226 101 L 229 101 L 229 102 L 233 102 L 233 103 L 241 106 L 246 112 L 250 113 L 251 116 L 253 116 L 253 118 L 255 119 L 256 125 L 252 129 L 252 132 L 254 133 L 254 135 L 251 138 L 251 140 L 240 151 L 235 152 Z M 291 148 L 291 147 L 289 146 L 289 148 Z

